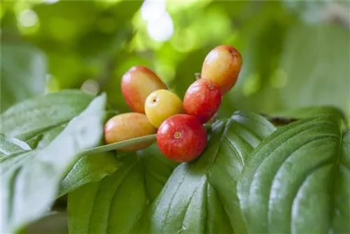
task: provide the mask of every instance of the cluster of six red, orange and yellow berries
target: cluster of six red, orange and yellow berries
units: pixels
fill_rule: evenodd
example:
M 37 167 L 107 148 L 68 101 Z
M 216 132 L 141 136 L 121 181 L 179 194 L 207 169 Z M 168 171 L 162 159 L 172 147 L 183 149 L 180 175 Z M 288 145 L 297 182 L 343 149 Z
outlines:
M 222 96 L 235 85 L 241 64 L 241 55 L 232 46 L 214 48 L 205 57 L 201 77 L 190 85 L 183 102 L 151 69 L 132 67 L 124 74 L 121 88 L 127 104 L 136 112 L 107 121 L 106 144 L 157 132 L 158 147 L 167 158 L 176 162 L 197 158 L 207 144 L 202 124 L 213 118 Z M 150 144 L 143 142 L 121 150 L 136 151 Z

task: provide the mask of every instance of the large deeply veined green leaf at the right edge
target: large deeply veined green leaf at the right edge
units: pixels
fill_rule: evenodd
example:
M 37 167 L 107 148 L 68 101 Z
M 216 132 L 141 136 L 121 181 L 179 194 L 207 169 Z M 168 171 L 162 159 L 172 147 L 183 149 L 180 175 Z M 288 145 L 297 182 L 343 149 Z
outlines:
M 330 115 L 302 119 L 267 137 L 238 185 L 248 232 L 349 233 L 349 152 L 349 132 L 342 143 Z

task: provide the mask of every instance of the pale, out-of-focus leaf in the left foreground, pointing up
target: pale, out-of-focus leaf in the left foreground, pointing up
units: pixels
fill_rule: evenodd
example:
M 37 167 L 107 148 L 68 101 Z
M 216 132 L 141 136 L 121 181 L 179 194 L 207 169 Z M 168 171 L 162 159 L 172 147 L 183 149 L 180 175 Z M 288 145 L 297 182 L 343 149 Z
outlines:
M 97 97 L 48 146 L 13 157 L 30 160 L 1 170 L 3 232 L 12 233 L 48 211 L 67 167 L 78 153 L 99 143 L 105 106 L 106 95 Z

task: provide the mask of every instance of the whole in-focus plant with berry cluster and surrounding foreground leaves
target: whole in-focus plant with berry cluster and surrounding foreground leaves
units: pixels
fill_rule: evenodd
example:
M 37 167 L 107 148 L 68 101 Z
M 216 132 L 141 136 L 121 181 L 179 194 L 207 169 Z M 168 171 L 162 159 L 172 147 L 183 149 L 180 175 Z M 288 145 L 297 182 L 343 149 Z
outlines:
M 344 114 L 217 119 L 241 64 L 232 46 L 214 48 L 184 97 L 133 67 L 121 88 L 135 112 L 64 90 L 1 113 L 1 233 L 64 195 L 69 233 L 350 233 Z

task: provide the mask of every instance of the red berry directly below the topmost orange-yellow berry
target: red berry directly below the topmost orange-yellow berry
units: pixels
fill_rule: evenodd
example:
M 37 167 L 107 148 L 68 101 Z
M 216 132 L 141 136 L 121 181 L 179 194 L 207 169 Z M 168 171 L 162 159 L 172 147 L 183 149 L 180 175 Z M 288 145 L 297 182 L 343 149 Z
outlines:
M 197 117 L 201 123 L 206 123 L 218 111 L 221 99 L 220 86 L 214 81 L 201 78 L 186 91 L 183 109 L 190 116 Z

